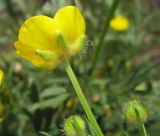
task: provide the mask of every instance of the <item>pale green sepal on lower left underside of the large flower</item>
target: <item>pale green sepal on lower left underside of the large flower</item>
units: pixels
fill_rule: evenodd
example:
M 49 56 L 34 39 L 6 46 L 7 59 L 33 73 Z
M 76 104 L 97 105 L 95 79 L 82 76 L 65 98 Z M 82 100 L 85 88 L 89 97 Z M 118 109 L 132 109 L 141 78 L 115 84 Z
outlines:
M 44 60 L 54 60 L 56 58 L 55 53 L 51 51 L 36 50 L 36 54 Z

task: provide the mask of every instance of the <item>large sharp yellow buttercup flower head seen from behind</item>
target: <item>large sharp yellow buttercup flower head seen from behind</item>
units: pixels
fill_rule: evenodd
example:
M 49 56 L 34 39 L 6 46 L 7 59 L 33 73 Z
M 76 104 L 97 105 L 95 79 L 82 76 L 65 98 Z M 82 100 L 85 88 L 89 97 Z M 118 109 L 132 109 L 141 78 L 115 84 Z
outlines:
M 62 58 L 76 55 L 83 47 L 85 21 L 80 10 L 66 6 L 53 18 L 39 15 L 24 22 L 15 42 L 17 54 L 36 67 L 53 69 Z

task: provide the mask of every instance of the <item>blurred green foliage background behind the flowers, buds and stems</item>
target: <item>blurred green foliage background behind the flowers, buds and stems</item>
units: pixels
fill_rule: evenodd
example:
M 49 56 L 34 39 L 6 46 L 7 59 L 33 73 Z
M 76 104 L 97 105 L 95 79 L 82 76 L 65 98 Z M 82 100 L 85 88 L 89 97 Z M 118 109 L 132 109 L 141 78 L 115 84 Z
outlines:
M 120 0 L 116 15 L 128 18 L 129 28 L 109 28 L 98 65 L 91 76 L 95 46 L 105 25 L 112 0 L 76 2 L 87 23 L 85 50 L 72 62 L 74 71 L 96 118 L 107 136 L 123 136 L 123 105 L 137 99 L 147 105 L 150 136 L 160 134 L 160 1 Z M 65 118 L 84 111 L 63 66 L 54 71 L 34 68 L 16 55 L 13 43 L 29 17 L 54 16 L 72 0 L 0 0 L 0 68 L 4 85 L 0 102 L 0 136 L 40 136 L 39 131 L 63 135 Z M 131 136 L 137 127 L 127 124 Z

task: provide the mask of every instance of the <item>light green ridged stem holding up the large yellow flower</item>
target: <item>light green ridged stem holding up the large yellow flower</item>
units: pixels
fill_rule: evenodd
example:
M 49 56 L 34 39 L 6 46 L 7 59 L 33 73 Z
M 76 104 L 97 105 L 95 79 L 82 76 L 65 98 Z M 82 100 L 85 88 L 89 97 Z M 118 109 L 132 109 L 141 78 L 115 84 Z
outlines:
M 97 136 L 103 136 L 103 133 L 102 133 L 102 131 L 101 131 L 101 129 L 100 129 L 100 127 L 99 127 L 99 125 L 98 125 L 98 123 L 97 123 L 97 121 L 96 121 L 96 119 L 95 119 L 95 117 L 94 117 L 94 115 L 93 115 L 93 113 L 91 111 L 91 109 L 90 109 L 90 106 L 89 106 L 89 104 L 88 104 L 88 102 L 87 102 L 87 100 L 86 100 L 86 98 L 85 98 L 85 96 L 84 96 L 84 94 L 82 92 L 82 89 L 81 89 L 81 87 L 80 87 L 80 85 L 79 85 L 79 83 L 77 81 L 77 78 L 76 78 L 76 76 L 75 76 L 75 74 L 74 74 L 74 72 L 73 72 L 73 70 L 72 70 L 72 68 L 70 66 L 69 61 L 67 59 L 65 59 L 64 60 L 64 64 L 65 64 L 65 68 L 66 68 L 66 71 L 68 73 L 68 76 L 69 76 L 69 78 L 70 78 L 70 80 L 72 82 L 72 85 L 73 85 L 73 87 L 74 87 L 74 89 L 76 91 L 76 94 L 78 95 L 78 97 L 80 99 L 82 107 L 83 107 L 83 109 L 84 109 L 84 111 L 85 111 L 90 123 L 92 124 L 96 135 Z

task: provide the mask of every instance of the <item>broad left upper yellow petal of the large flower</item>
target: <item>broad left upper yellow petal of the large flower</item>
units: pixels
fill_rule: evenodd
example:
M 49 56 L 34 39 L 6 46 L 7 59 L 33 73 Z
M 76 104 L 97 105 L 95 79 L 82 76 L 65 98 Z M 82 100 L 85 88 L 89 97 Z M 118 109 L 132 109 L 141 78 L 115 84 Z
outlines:
M 34 16 L 26 20 L 19 31 L 19 41 L 30 49 L 54 50 L 56 30 L 54 20 L 47 16 Z

